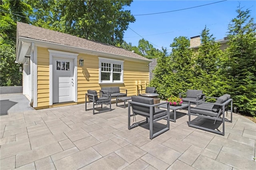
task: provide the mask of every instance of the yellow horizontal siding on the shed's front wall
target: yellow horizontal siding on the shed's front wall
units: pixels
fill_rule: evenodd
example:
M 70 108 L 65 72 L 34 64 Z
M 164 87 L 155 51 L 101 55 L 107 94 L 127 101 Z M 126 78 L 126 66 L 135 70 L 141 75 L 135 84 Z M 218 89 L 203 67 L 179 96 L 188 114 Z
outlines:
M 38 107 L 36 109 L 54 107 L 49 106 L 49 52 L 47 48 L 38 47 Z M 67 51 L 68 52 L 68 51 Z M 85 93 L 88 89 L 99 91 L 101 87 L 119 86 L 127 89 L 128 96 L 136 95 L 136 81 L 141 81 L 142 88 L 149 80 L 148 63 L 124 61 L 124 84 L 100 85 L 98 56 L 79 54 L 77 60 L 77 103 L 85 102 Z M 79 59 L 84 59 L 84 66 L 79 65 Z M 146 81 L 146 83 L 145 83 Z M 124 91 L 121 91 L 124 92 Z M 72 103 L 71 103 L 72 104 Z M 62 105 L 62 104 L 60 104 Z M 64 105 L 64 104 L 63 104 Z M 59 106 L 59 105 L 58 105 Z

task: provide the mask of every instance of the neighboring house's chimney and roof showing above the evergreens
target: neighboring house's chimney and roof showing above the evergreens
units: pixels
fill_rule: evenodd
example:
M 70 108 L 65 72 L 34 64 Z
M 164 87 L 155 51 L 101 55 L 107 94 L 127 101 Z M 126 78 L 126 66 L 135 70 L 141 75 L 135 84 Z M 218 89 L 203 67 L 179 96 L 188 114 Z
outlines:
M 220 49 L 224 51 L 228 47 L 228 38 L 224 37 L 221 40 L 216 40 L 215 42 L 220 43 Z M 199 46 L 201 45 L 201 39 L 200 36 L 195 36 L 190 38 L 190 48 L 198 50 Z

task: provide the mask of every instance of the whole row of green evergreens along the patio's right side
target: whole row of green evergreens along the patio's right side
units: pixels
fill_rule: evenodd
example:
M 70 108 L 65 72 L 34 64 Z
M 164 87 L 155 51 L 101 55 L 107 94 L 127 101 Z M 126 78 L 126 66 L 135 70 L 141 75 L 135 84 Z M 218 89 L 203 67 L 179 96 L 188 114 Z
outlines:
M 231 94 L 239 113 L 256 116 L 256 24 L 250 10 L 236 10 L 238 16 L 229 24 L 229 47 L 220 44 L 206 27 L 197 51 L 189 48 L 186 37 L 170 45 L 169 57 L 159 57 L 150 85 L 167 99 L 187 89 L 201 89 L 207 96 Z

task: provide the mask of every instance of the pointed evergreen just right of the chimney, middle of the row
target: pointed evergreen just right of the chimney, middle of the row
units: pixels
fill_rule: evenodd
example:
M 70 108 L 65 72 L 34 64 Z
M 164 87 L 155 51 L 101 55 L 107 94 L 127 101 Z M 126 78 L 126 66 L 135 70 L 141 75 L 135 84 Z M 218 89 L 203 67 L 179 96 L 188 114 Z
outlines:
M 226 93 L 228 82 L 222 74 L 226 61 L 220 44 L 206 27 L 201 33 L 201 45 L 196 52 L 195 79 L 193 89 L 202 89 L 208 96 L 218 97 Z

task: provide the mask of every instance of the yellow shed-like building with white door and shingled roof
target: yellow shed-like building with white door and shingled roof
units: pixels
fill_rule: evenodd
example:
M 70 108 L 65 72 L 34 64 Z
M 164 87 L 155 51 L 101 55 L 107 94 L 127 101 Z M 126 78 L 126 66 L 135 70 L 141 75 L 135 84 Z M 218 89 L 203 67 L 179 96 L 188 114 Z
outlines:
M 136 83 L 149 82 L 151 62 L 120 47 L 21 22 L 16 61 L 23 64 L 23 94 L 35 109 L 84 103 L 88 89 L 108 86 L 136 95 Z

